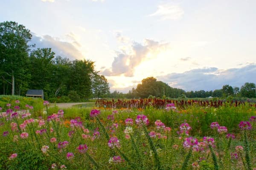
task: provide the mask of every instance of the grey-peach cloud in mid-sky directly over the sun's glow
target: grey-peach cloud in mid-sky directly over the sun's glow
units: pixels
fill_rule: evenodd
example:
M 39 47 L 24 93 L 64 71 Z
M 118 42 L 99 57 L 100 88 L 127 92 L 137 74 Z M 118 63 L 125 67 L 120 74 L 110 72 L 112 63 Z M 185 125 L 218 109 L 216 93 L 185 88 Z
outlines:
M 122 75 L 126 77 L 134 76 L 134 69 L 147 58 L 148 54 L 157 55 L 161 50 L 164 50 L 168 43 L 160 43 L 158 41 L 145 39 L 143 44 L 132 42 L 130 49 L 122 49 L 121 52 L 116 52 L 116 57 L 112 63 L 111 69 L 105 69 L 102 74 L 105 76 Z

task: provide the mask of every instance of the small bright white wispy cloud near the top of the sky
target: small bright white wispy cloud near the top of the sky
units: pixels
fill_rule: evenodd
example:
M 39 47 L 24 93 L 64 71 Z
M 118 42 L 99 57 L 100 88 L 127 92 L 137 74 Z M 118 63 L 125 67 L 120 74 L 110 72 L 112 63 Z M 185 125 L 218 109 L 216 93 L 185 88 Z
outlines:
M 164 4 L 157 7 L 157 11 L 150 14 L 151 17 L 160 17 L 160 20 L 180 20 L 184 15 L 179 5 Z

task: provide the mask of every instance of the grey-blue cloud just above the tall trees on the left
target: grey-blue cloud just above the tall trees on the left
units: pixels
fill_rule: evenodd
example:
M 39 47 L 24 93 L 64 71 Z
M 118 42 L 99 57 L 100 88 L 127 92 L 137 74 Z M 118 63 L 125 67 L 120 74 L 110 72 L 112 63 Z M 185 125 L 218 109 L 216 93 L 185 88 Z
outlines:
M 32 33 L 33 37 L 31 40 L 32 44 L 36 44 L 36 48 L 52 48 L 52 51 L 55 52 L 55 55 L 60 55 L 61 57 L 67 57 L 70 59 L 81 60 L 84 56 L 76 48 L 76 46 L 81 46 L 74 35 L 69 34 L 69 37 L 73 38 L 73 42 L 62 41 L 60 38 L 51 37 L 50 35 L 38 36 Z

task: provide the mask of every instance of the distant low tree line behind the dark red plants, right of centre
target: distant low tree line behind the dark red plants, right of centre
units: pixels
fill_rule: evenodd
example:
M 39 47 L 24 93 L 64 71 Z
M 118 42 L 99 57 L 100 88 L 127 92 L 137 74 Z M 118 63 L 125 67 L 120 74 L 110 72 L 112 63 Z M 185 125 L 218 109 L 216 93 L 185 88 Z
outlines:
M 198 90 L 185 92 L 183 89 L 173 88 L 168 84 L 157 81 L 154 77 L 142 80 L 137 88 L 132 88 L 127 94 L 114 91 L 109 97 L 116 98 L 207 98 L 207 97 L 247 97 L 256 98 L 254 83 L 245 83 L 241 88 L 230 85 L 222 86 L 222 89 L 210 91 Z

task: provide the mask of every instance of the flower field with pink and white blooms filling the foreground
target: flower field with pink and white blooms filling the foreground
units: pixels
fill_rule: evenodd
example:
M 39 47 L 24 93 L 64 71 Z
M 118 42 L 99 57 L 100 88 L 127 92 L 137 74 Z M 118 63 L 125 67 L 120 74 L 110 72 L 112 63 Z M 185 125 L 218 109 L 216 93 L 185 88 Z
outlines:
M 18 100 L 5 104 L 0 107 L 0 169 L 256 168 L 253 104 L 148 103 L 58 110 L 44 101 L 43 112 Z

